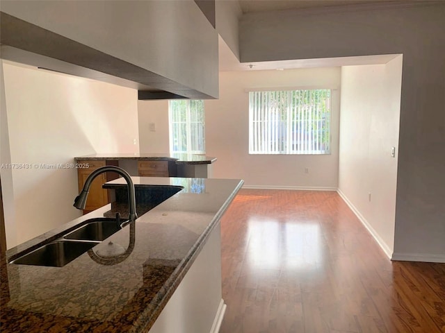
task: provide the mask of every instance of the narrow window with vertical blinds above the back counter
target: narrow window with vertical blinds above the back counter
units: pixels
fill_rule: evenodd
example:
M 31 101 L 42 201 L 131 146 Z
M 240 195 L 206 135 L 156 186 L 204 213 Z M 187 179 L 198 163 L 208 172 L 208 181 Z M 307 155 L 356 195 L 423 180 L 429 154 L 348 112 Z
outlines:
M 169 101 L 170 152 L 205 153 L 204 101 Z

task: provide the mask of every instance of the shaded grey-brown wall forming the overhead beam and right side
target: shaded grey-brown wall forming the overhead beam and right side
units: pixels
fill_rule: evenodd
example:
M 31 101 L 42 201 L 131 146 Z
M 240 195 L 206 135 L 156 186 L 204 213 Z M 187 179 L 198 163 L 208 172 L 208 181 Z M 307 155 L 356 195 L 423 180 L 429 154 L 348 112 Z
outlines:
M 445 3 L 365 8 L 243 15 L 241 61 L 403 54 L 393 258 L 445 262 Z

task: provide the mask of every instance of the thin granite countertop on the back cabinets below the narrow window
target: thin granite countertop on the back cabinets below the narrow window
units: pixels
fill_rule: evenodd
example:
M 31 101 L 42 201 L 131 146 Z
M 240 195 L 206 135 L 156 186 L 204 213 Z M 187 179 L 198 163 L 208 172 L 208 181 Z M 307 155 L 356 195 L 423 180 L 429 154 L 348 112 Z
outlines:
M 74 160 L 175 161 L 176 164 L 211 164 L 216 161 L 216 157 L 180 153 L 110 153 L 79 156 L 74 157 Z

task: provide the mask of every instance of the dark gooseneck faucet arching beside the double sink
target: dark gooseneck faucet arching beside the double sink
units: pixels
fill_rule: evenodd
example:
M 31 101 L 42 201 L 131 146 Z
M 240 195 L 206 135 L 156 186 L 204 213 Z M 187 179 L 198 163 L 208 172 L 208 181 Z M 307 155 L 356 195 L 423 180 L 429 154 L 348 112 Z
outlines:
M 119 173 L 125 179 L 125 181 L 127 181 L 128 205 L 130 214 L 129 214 L 129 221 L 122 223 L 121 227 L 123 227 L 125 224 L 129 222 L 135 221 L 138 218 L 138 215 L 136 215 L 136 196 L 134 194 L 133 180 L 131 180 L 131 176 L 129 175 L 129 173 L 120 167 L 114 167 L 113 165 L 109 165 L 106 167 L 100 167 L 99 169 L 92 171 L 90 176 L 86 178 L 85 185 L 83 185 L 81 193 L 74 199 L 74 207 L 76 207 L 78 210 L 85 209 L 86 198 L 88 197 L 88 192 L 90 191 L 92 180 L 94 180 L 97 176 L 99 176 L 99 174 L 107 171 L 113 171 L 115 173 Z

